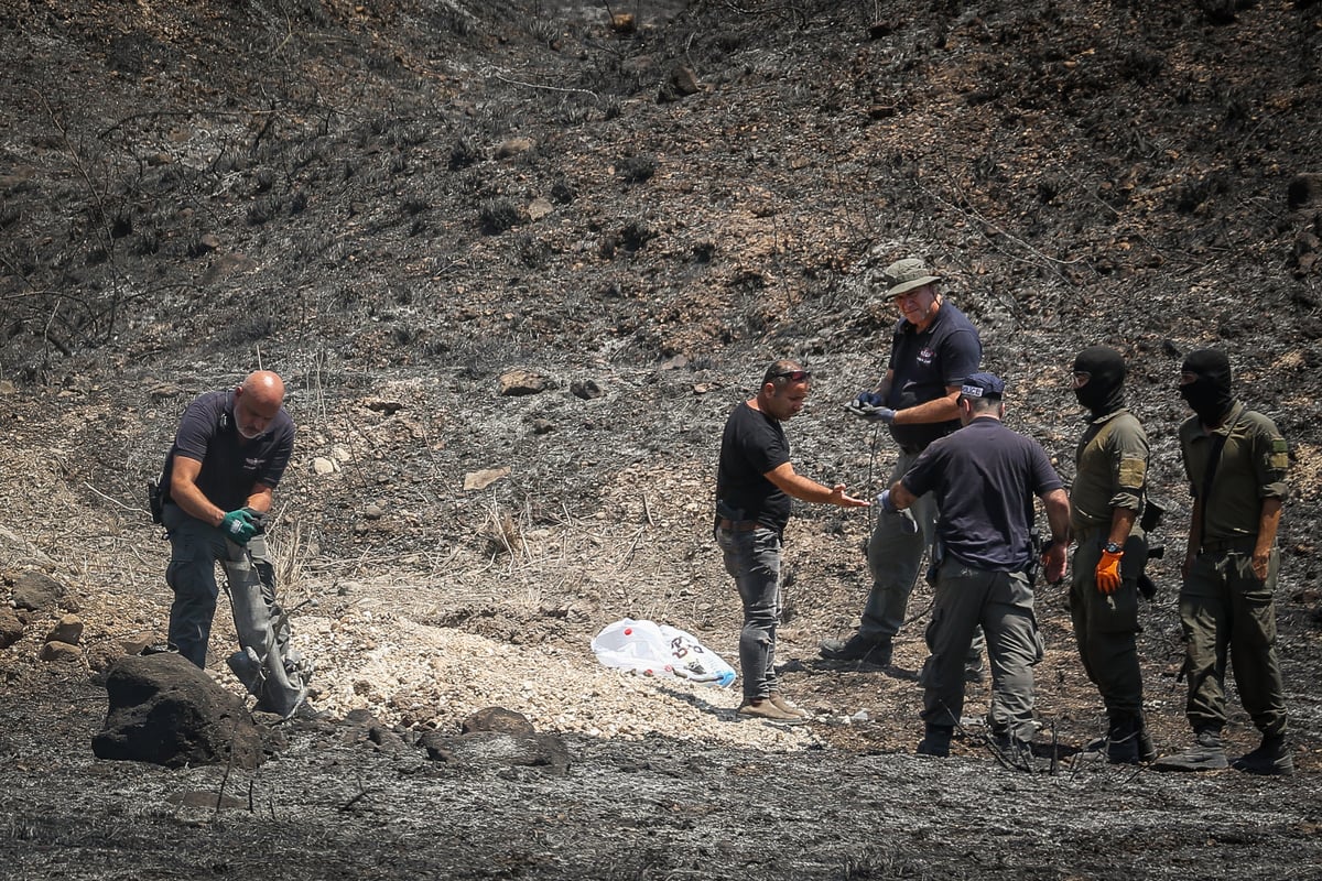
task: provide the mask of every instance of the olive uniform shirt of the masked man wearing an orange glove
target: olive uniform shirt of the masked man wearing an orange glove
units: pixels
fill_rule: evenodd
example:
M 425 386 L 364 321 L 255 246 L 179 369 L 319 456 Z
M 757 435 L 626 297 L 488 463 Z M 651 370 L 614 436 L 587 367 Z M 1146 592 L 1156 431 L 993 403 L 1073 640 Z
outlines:
M 1146 479 L 1147 435 L 1138 419 L 1121 408 L 1092 420 L 1075 450 L 1075 479 L 1069 489 L 1069 524 L 1075 535 L 1109 531 L 1112 509 L 1141 511 Z

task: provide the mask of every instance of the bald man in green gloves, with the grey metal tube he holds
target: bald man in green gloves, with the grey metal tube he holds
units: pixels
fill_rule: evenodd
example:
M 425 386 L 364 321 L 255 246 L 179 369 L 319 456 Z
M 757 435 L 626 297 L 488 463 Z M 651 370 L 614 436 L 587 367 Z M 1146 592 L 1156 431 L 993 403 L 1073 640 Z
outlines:
M 219 561 L 239 638 L 230 668 L 258 699 L 258 709 L 312 716 L 309 670 L 290 646 L 263 535 L 272 490 L 293 452 L 293 421 L 283 403 L 280 378 L 258 371 L 233 391 L 201 395 L 180 420 L 160 482 L 171 542 L 165 581 L 175 592 L 169 643 L 206 667 Z

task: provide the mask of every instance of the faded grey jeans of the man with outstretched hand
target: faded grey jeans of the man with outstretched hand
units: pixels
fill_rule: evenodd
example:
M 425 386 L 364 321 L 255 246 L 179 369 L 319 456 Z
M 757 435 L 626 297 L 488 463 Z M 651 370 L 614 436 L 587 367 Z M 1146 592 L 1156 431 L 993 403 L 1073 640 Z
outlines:
M 726 572 L 739 588 L 744 623 L 739 631 L 739 667 L 746 700 L 779 691 L 776 683 L 776 622 L 780 619 L 780 534 L 717 530 Z

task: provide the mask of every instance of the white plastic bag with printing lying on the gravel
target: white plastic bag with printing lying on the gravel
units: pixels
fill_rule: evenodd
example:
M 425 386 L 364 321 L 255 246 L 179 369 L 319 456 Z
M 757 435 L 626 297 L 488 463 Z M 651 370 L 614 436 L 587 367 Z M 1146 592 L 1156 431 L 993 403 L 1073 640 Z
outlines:
M 734 667 L 677 627 L 654 621 L 623 618 L 607 625 L 592 639 L 592 654 L 612 670 L 646 676 L 678 676 L 710 686 L 730 687 Z

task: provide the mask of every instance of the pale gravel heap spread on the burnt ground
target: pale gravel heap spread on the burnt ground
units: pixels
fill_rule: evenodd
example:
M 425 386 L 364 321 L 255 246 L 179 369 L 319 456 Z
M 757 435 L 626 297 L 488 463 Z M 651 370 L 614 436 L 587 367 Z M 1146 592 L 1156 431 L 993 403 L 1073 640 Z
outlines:
M 516 646 L 405 617 L 352 609 L 297 618 L 295 646 L 316 664 L 316 705 L 366 709 L 382 722 L 457 732 L 485 707 L 504 707 L 546 732 L 637 740 L 661 734 L 724 746 L 787 750 L 818 742 L 810 725 L 735 717 L 742 693 L 686 679 L 603 667 L 582 650 Z

